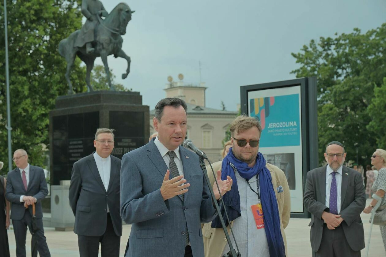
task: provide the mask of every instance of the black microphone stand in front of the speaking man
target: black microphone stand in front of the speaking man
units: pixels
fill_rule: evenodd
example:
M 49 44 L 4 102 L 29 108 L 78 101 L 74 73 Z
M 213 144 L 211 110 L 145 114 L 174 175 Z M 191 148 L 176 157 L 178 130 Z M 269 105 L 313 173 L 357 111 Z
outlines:
M 198 155 L 198 158 L 200 159 L 201 170 L 204 173 L 205 180 L 207 181 L 207 185 L 208 185 L 208 188 L 209 188 L 209 191 L 210 191 L 210 195 L 212 196 L 212 201 L 215 204 L 215 209 L 217 210 L 218 217 L 220 218 L 222 229 L 224 230 L 224 233 L 225 233 L 225 238 L 227 239 L 227 242 L 228 242 L 228 245 L 229 245 L 230 251 L 227 254 L 223 255 L 223 257 L 240 257 L 241 256 L 240 253 L 236 253 L 236 250 L 233 248 L 232 243 L 230 242 L 229 233 L 228 233 L 227 227 L 225 226 L 224 219 L 222 218 L 220 207 L 218 207 L 217 200 L 216 200 L 216 197 L 215 197 L 215 193 L 213 192 L 212 185 L 210 185 L 209 177 L 208 177 L 208 174 L 207 174 L 207 168 L 206 168 L 205 163 L 204 163 L 204 158 L 201 155 L 199 155 L 199 154 L 197 154 L 197 155 Z M 215 183 L 217 184 L 217 188 L 218 188 L 218 183 L 217 183 L 217 180 L 216 180 L 216 176 L 215 176 Z M 222 200 L 221 194 L 220 194 L 220 198 L 221 198 L 222 203 L 224 203 L 223 200 Z M 227 210 L 225 210 L 225 206 L 224 206 L 224 211 L 225 212 L 227 211 Z M 227 215 L 227 217 L 228 217 L 228 215 Z M 230 226 L 229 219 L 228 219 L 228 223 L 229 223 L 229 226 Z M 233 232 L 232 232 L 232 234 L 233 234 Z M 234 238 L 234 235 L 233 235 L 233 238 Z M 239 248 L 237 247 L 236 240 L 235 240 L 235 244 L 236 244 L 237 250 L 239 250 Z

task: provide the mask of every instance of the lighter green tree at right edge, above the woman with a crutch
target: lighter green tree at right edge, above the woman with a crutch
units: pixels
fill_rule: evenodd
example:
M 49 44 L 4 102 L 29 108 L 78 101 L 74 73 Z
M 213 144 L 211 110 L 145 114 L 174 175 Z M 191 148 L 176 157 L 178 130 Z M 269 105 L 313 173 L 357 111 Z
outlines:
M 381 87 L 374 88 L 374 98 L 367 110 L 371 118 L 367 128 L 376 135 L 377 148 L 386 149 L 386 77 Z

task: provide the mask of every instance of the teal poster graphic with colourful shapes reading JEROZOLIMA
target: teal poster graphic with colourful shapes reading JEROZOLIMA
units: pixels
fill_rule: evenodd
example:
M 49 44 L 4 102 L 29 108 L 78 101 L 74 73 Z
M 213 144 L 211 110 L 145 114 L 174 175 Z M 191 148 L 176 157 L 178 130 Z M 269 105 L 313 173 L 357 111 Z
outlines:
M 250 99 L 249 107 L 261 123 L 260 147 L 300 146 L 299 94 Z

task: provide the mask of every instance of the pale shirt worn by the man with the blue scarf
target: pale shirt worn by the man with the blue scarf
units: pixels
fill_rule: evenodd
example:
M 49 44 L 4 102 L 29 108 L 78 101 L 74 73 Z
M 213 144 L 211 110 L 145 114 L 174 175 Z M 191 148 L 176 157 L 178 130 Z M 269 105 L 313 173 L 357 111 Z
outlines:
M 269 257 L 269 247 L 265 228 L 257 229 L 251 208 L 251 205 L 260 202 L 259 197 L 257 197 L 257 194 L 254 192 L 257 192 L 257 176 L 253 176 L 249 180 L 249 185 L 251 185 L 254 190 L 252 191 L 251 188 L 249 188 L 247 181 L 242 178 L 237 171 L 235 172 L 235 175 L 240 194 L 241 217 L 234 220 L 232 229 L 235 234 L 237 245 L 239 246 L 240 254 L 243 257 Z M 236 249 L 232 234 L 230 234 L 230 240 L 232 246 Z M 223 255 L 228 252 L 229 245 L 226 244 Z

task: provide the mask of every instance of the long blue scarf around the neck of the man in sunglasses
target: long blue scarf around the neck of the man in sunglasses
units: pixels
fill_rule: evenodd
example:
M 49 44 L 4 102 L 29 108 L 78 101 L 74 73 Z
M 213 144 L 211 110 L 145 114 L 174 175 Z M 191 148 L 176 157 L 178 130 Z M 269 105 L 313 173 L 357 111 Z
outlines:
M 266 161 L 260 152 L 256 156 L 256 164 L 252 168 L 249 167 L 247 163 L 238 160 L 233 155 L 232 148 L 229 149 L 228 155 L 225 156 L 224 160 L 222 161 L 221 180 L 226 180 L 227 176 L 230 176 L 233 180 L 232 189 L 225 193 L 225 195 L 222 197 L 225 203 L 225 207 L 222 206 L 221 213 L 225 225 L 228 226 L 228 221 L 226 220 L 223 208 L 226 208 L 230 221 L 235 220 L 241 216 L 239 188 L 237 187 L 237 180 L 234 169 L 230 166 L 230 163 L 235 166 L 240 176 L 246 180 L 251 179 L 253 176 L 259 175 L 260 197 L 262 210 L 264 213 L 264 228 L 269 247 L 269 256 L 285 257 L 286 254 L 284 241 L 280 230 L 278 202 L 276 200 L 275 191 L 273 189 L 271 174 L 267 169 Z M 212 227 L 222 227 L 219 217 L 216 217 L 212 221 Z

